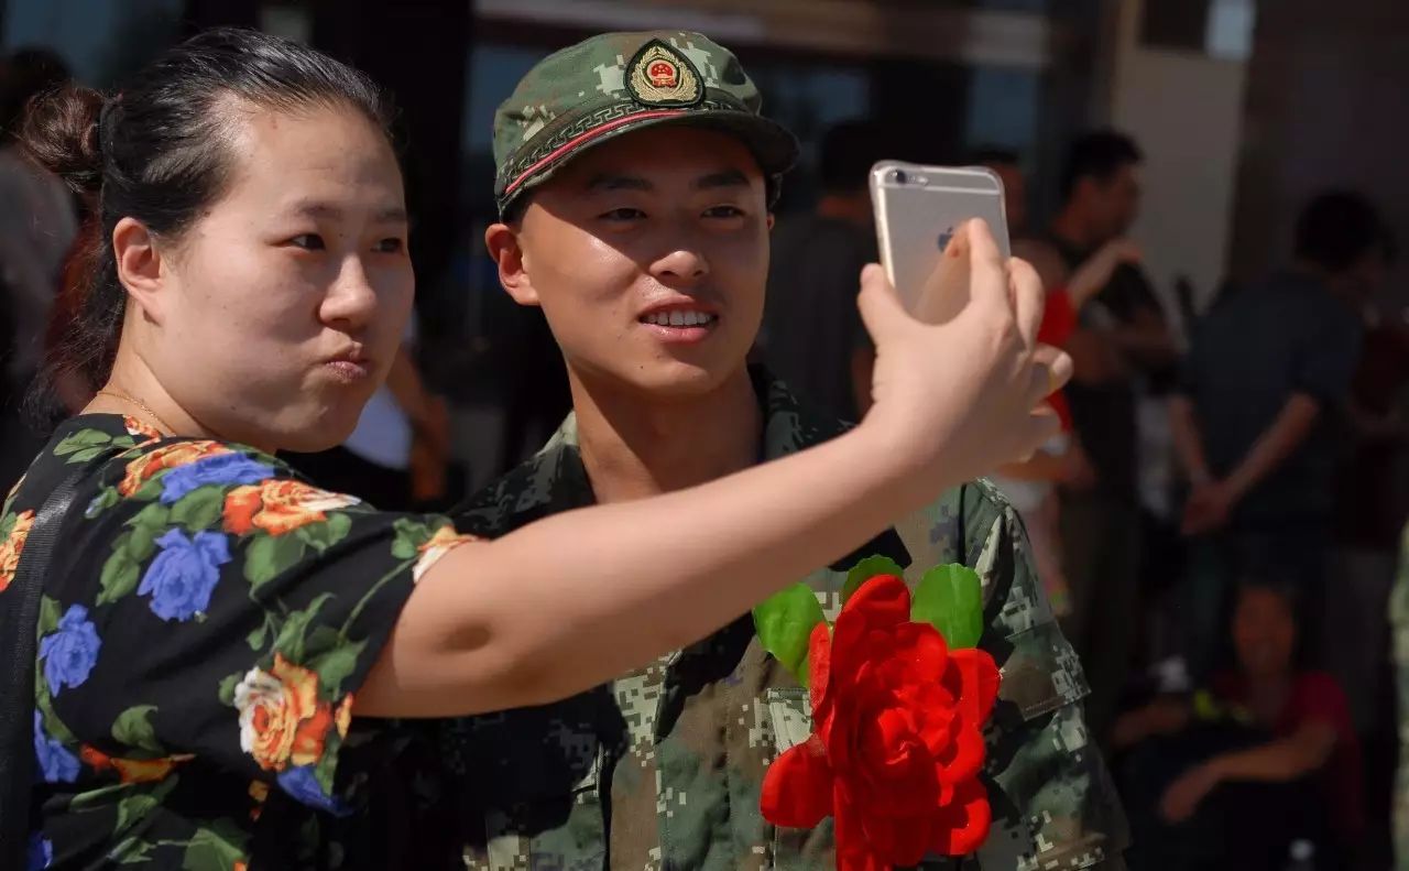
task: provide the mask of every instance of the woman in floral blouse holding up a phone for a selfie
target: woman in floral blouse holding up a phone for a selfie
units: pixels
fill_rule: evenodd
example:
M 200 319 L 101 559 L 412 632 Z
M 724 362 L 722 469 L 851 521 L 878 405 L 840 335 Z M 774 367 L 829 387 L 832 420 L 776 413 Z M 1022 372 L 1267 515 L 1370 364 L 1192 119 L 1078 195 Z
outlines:
M 975 226 L 947 324 L 867 273 L 876 404 L 827 445 L 493 543 L 317 490 L 273 452 L 347 437 L 411 303 L 386 118 L 359 73 L 230 30 L 31 113 L 31 152 L 97 210 L 65 344 L 96 396 L 0 529 L 4 589 L 80 469 L 42 576 L 34 867 L 348 867 L 320 829 L 358 809 L 379 719 L 596 685 L 1055 426 L 1033 409 L 1069 364 L 1031 338 L 1037 280 Z

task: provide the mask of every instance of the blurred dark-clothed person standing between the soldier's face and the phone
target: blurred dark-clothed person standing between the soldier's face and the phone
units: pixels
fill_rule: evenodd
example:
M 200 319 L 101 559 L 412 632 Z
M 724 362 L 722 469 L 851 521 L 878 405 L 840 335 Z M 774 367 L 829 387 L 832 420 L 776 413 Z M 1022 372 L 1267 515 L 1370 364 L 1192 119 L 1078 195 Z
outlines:
M 875 348 L 857 317 L 855 276 L 876 262 L 871 166 L 886 140 L 869 121 L 845 121 L 821 140 L 821 196 L 772 235 L 762 358 L 799 396 L 841 420 L 871 404 Z

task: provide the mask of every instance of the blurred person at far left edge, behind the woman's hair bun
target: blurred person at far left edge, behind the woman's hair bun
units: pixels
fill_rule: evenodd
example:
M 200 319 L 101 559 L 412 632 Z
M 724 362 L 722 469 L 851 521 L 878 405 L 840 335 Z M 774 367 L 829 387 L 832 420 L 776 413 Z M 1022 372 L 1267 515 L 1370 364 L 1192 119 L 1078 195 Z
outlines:
M 69 80 L 63 61 L 42 48 L 0 59 L 0 492 L 8 492 L 44 434 L 23 420 L 21 400 L 44 355 L 63 258 L 77 235 L 68 187 L 17 147 L 24 107 Z

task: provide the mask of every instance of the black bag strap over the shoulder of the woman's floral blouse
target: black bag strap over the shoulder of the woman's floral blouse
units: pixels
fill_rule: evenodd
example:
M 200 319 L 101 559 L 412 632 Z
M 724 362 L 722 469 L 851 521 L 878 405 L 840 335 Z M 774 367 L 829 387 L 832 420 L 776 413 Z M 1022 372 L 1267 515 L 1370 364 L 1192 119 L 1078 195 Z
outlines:
M 30 792 L 34 784 L 34 669 L 39 595 L 63 517 L 79 481 L 94 461 L 73 469 L 44 500 L 20 552 L 8 589 L 0 593 L 0 871 L 28 863 Z

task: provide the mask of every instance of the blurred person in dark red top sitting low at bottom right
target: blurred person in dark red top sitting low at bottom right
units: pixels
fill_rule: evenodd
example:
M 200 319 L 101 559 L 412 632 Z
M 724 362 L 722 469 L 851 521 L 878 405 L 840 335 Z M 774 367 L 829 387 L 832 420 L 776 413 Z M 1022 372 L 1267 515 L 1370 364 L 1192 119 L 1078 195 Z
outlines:
M 1146 848 L 1188 851 L 1203 841 L 1206 855 L 1224 863 L 1217 867 L 1255 871 L 1281 868 L 1291 841 L 1310 840 L 1317 870 L 1340 867 L 1364 833 L 1346 693 L 1330 675 L 1298 665 L 1289 588 L 1244 583 L 1231 636 L 1236 669 L 1216 674 L 1210 692 L 1157 699 L 1116 723 L 1116 748 L 1131 750 L 1122 765 L 1131 817 L 1160 816 L 1141 820 Z M 1171 760 L 1186 767 L 1157 782 L 1151 770 Z M 1141 793 L 1157 808 L 1140 808 Z

